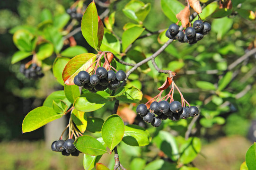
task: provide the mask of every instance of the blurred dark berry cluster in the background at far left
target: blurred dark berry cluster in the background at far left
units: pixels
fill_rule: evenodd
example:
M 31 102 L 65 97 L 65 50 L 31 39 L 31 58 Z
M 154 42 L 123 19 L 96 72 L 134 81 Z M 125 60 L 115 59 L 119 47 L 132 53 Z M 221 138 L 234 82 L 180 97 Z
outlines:
M 35 63 L 31 64 L 29 68 L 26 68 L 25 64 L 21 64 L 19 71 L 27 78 L 37 79 L 44 76 L 44 73 L 42 73 L 42 68 L 37 66 Z

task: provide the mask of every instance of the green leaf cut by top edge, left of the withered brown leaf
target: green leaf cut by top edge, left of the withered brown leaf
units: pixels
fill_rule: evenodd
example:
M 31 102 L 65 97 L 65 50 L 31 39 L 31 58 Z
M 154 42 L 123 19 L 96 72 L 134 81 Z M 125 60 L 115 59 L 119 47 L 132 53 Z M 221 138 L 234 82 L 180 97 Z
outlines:
M 161 0 L 161 8 L 172 22 L 177 23 L 177 13 L 179 13 L 185 6 L 177 0 Z

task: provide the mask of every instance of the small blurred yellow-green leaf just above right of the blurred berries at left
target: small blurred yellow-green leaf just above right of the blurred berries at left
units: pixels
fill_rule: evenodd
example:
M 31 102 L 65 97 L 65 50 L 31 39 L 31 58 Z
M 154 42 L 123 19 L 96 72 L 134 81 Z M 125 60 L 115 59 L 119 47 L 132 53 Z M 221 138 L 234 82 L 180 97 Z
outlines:
M 53 54 L 53 44 L 41 43 L 36 47 L 36 57 L 39 60 L 44 60 Z

